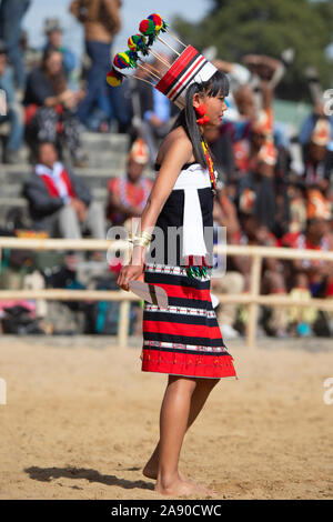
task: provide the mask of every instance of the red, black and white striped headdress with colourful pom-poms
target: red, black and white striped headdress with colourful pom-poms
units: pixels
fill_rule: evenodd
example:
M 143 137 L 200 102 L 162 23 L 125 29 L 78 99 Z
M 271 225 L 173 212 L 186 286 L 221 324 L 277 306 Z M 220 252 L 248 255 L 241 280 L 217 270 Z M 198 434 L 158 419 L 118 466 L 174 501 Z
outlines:
M 115 54 L 112 70 L 107 77 L 108 83 L 111 87 L 119 86 L 127 76 L 127 72 L 140 67 L 147 72 L 148 77 L 144 79 L 132 74 L 134 78 L 152 84 L 180 109 L 183 109 L 189 86 L 194 81 L 199 83 L 208 81 L 216 72 L 216 68 L 192 46 L 185 46 L 179 40 L 179 38 L 169 30 L 169 24 L 158 13 L 152 13 L 144 18 L 139 24 L 139 31 L 140 33 L 129 38 L 129 49 Z M 165 39 L 161 38 L 161 33 L 171 37 L 173 41 L 176 42 L 176 46 L 182 46 L 184 50 L 178 52 L 173 47 L 174 44 L 170 44 Z M 175 54 L 175 59 L 171 66 L 161 54 L 152 49 L 157 40 Z M 142 60 L 142 57 L 148 57 L 149 54 L 153 56 L 160 63 L 165 66 L 167 72 L 161 76 L 158 69 Z

